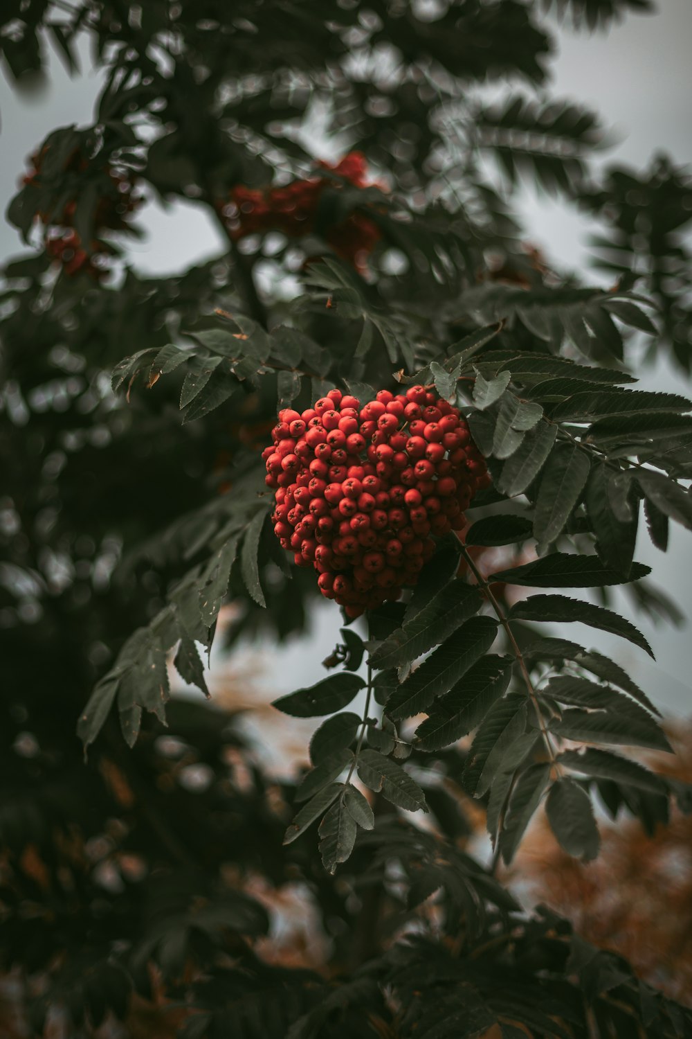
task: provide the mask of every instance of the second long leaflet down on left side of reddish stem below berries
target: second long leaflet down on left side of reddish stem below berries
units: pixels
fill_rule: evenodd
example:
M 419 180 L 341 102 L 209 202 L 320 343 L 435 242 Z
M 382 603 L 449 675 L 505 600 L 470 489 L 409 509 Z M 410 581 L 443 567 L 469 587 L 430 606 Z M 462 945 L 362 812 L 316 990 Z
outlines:
M 472 617 L 435 650 L 387 700 L 394 720 L 424 711 L 436 696 L 446 693 L 495 641 L 497 620 Z

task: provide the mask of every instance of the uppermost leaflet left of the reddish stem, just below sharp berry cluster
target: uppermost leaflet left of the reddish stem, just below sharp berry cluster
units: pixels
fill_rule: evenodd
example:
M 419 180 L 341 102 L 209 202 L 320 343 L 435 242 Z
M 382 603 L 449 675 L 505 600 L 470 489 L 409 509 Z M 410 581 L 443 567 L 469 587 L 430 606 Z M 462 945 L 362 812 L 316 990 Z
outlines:
M 432 646 L 444 642 L 481 605 L 476 588 L 464 581 L 452 581 L 370 654 L 370 664 L 388 668 L 411 663 Z

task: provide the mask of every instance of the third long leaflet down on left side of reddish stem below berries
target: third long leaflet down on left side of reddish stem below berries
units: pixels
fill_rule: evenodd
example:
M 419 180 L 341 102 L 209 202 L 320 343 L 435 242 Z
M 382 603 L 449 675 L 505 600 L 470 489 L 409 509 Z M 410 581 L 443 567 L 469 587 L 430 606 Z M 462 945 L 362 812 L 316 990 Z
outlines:
M 504 695 L 511 676 L 509 657 L 481 657 L 456 685 L 431 708 L 416 729 L 418 750 L 440 750 L 478 725 Z

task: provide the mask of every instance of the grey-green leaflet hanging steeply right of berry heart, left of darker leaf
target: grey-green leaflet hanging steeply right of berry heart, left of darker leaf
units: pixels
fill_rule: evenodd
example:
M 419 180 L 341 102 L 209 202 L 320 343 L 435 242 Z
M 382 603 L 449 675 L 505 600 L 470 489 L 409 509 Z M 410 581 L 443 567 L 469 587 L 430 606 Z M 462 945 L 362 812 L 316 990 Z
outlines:
M 533 536 L 548 547 L 564 530 L 579 504 L 590 469 L 588 454 L 576 444 L 558 444 L 541 478 L 533 517 Z

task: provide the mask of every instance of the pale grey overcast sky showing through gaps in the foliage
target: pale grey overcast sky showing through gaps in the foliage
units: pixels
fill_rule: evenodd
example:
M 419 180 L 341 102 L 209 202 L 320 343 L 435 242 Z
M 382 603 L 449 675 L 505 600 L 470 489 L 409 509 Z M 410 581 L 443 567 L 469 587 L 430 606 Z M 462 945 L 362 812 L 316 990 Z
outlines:
M 604 156 L 636 166 L 645 165 L 657 151 L 682 163 L 692 159 L 692 0 L 661 0 L 655 16 L 631 17 L 608 36 L 588 36 L 560 30 L 559 54 L 553 63 L 553 92 L 596 108 L 613 130 L 616 145 Z M 51 85 L 38 99 L 12 95 L 0 76 L 0 198 L 3 210 L 24 169 L 24 157 L 56 126 L 91 122 L 99 79 L 87 72 L 70 80 L 57 60 L 52 63 Z M 561 264 L 585 263 L 587 225 L 561 203 L 525 191 L 521 208 L 529 237 Z M 194 205 L 176 205 L 165 212 L 150 206 L 138 222 L 145 240 L 132 246 L 133 263 L 141 271 L 163 273 L 217 252 L 222 243 L 205 213 Z M 0 228 L 0 259 L 21 251 L 17 233 Z M 680 376 L 666 364 L 647 371 L 649 389 L 681 390 Z M 692 387 L 690 388 L 692 393 Z M 667 555 L 640 536 L 637 558 L 654 567 L 654 577 L 692 616 L 692 536 L 673 527 Z M 654 646 L 657 663 L 629 643 L 574 625 L 575 639 L 611 654 L 649 692 L 656 702 L 674 713 L 689 715 L 690 630 L 653 628 L 632 613 L 619 596 L 618 608 L 635 620 Z M 266 673 L 268 688 L 288 692 L 321 677 L 319 661 L 337 640 L 339 611 L 326 604 L 315 613 L 314 629 L 272 659 Z M 324 673 L 324 672 L 323 672 Z

